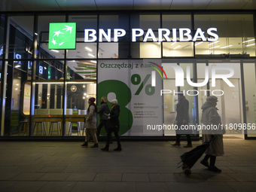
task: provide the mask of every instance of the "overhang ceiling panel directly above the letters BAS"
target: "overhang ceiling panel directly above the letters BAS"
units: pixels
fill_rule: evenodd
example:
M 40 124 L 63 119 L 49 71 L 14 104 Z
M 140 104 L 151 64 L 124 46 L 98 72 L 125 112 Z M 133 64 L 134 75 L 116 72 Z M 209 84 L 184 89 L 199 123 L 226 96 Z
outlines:
M 170 9 L 206 9 L 209 2 L 211 0 L 172 0 Z

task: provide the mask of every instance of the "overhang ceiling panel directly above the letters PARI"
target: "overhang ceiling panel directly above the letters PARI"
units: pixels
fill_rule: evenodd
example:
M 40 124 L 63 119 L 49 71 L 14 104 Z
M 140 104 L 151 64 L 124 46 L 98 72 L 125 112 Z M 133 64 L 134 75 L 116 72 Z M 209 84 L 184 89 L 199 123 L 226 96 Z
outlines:
M 134 10 L 169 10 L 172 0 L 134 0 Z

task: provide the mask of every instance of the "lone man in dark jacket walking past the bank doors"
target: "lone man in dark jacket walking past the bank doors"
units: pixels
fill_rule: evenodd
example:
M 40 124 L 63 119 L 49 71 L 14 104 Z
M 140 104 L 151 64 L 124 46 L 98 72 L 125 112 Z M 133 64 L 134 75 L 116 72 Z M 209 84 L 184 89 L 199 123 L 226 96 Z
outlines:
M 190 136 L 190 130 L 182 130 L 181 126 L 187 126 L 190 122 L 189 116 L 188 116 L 188 108 L 189 108 L 189 102 L 185 98 L 183 93 L 178 93 L 178 104 L 177 104 L 177 116 L 175 120 L 177 120 L 177 126 L 178 129 L 175 130 L 176 132 L 176 142 L 172 145 L 181 145 L 181 135 L 186 135 L 187 137 L 187 145 L 184 145 L 184 148 L 192 148 L 192 142 L 191 142 L 191 136 Z

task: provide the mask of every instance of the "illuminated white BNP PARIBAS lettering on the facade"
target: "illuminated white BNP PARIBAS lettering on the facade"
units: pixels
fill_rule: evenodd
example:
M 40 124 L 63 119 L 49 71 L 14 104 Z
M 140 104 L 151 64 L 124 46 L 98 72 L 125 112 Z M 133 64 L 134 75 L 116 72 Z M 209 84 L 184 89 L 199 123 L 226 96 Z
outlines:
M 113 32 L 113 38 L 112 33 Z M 132 41 L 136 42 L 137 38 L 143 37 L 143 42 L 154 41 L 154 42 L 162 42 L 162 41 L 177 41 L 177 29 L 165 29 L 161 28 L 157 30 L 158 35 L 156 36 L 153 29 L 148 29 L 146 32 L 143 29 L 132 29 Z M 172 35 L 171 35 L 172 32 Z M 201 28 L 197 28 L 197 31 L 194 34 L 194 37 L 191 34 L 191 29 L 188 28 L 180 28 L 178 29 L 178 38 L 180 42 L 186 41 L 217 41 L 218 35 L 217 28 L 209 28 L 207 29 L 208 38 L 206 38 L 205 32 L 202 31 Z M 95 42 L 99 38 L 99 42 L 103 41 L 105 38 L 106 41 L 118 42 L 118 38 L 121 38 L 126 35 L 126 31 L 124 29 L 107 29 L 105 32 L 104 29 L 99 29 L 99 37 L 97 37 L 97 32 L 95 29 L 84 29 L 84 42 Z M 170 38 L 172 36 L 172 40 Z M 158 39 L 157 39 L 158 38 Z M 114 40 L 111 40 L 114 39 Z

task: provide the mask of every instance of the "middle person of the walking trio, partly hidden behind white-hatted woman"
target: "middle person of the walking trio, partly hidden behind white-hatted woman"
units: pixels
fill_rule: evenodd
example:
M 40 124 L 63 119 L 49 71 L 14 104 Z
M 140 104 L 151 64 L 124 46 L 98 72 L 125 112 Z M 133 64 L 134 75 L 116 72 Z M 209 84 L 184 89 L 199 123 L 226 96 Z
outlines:
M 99 126 L 97 127 L 97 133 L 96 133 L 98 140 L 99 140 L 100 130 L 102 130 L 102 126 L 105 127 L 105 132 L 108 133 L 108 130 L 106 129 L 106 123 L 108 121 L 108 114 L 109 114 L 109 108 L 108 108 L 107 102 L 108 102 L 108 99 L 105 96 L 102 96 L 101 105 L 99 107 L 99 111 L 97 112 L 100 118 L 100 123 L 99 123 Z M 112 143 L 112 135 L 111 135 L 110 143 Z

